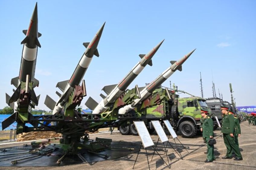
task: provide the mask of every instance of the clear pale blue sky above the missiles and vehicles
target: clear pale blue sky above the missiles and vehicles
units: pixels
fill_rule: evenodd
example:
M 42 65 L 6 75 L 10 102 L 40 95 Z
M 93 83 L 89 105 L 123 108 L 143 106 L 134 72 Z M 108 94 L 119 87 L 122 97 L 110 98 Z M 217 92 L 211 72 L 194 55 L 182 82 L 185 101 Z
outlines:
M 58 99 L 57 82 L 71 77 L 90 42 L 106 22 L 98 45 L 100 57 L 94 56 L 85 73 L 87 96 L 100 101 L 105 85 L 117 84 L 155 45 L 162 46 L 132 82 L 144 86 L 170 66 L 170 60 L 197 50 L 162 85 L 178 85 L 180 90 L 200 96 L 200 72 L 204 97 L 212 97 L 212 81 L 224 100 L 231 101 L 229 83 L 237 106 L 255 103 L 256 1 L 0 1 L 0 108 L 7 106 L 5 93 L 12 95 L 11 79 L 18 76 L 27 29 L 34 6 L 38 5 L 38 49 L 35 78 L 40 94 L 38 107 L 46 94 Z M 182 97 L 187 95 L 181 94 Z

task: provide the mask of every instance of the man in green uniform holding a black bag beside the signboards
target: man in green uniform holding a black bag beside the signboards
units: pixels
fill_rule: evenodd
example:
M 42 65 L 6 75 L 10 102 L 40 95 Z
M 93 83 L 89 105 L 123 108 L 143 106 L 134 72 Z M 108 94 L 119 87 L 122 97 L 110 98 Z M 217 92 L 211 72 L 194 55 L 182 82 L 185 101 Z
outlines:
M 214 156 L 214 145 L 209 145 L 209 139 L 213 138 L 213 120 L 208 116 L 208 111 L 201 109 L 201 115 L 204 118 L 203 121 L 203 138 L 206 139 L 207 145 L 207 158 L 204 162 L 213 162 L 215 160 Z

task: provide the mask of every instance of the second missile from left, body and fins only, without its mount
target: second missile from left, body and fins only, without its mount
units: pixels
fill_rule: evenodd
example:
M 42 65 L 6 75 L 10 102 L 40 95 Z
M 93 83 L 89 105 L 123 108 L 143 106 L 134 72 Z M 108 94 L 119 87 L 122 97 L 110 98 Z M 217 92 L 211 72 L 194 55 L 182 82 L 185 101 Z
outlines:
M 53 114 L 59 113 L 62 110 L 62 108 L 68 102 L 69 96 L 72 94 L 75 86 L 81 83 L 82 78 L 84 77 L 85 72 L 89 64 L 91 63 L 93 55 L 96 55 L 97 57 L 99 57 L 97 46 L 100 41 L 102 31 L 104 29 L 104 25 L 105 23 L 101 26 L 101 28 L 96 33 L 96 35 L 94 36 L 94 38 L 90 43 L 89 42 L 83 43 L 83 45 L 86 47 L 86 50 L 82 55 L 78 65 L 76 66 L 75 71 L 72 74 L 71 78 L 69 80 L 57 83 L 56 87 L 59 87 L 60 90 L 63 92 L 63 94 L 60 96 L 55 107 L 52 109 Z M 47 96 L 46 96 L 45 104 L 47 105 L 47 103 L 49 102 L 47 101 Z

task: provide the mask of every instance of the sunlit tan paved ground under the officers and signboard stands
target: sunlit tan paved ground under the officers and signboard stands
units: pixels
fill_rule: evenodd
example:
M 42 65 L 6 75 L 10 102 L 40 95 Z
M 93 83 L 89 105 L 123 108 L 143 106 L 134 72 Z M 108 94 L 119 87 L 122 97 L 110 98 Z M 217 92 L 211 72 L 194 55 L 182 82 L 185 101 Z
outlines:
M 217 129 L 214 131 L 215 139 L 217 144 L 214 145 L 214 154 L 216 156 L 216 161 L 205 163 L 206 154 L 206 144 L 203 143 L 202 136 L 197 136 L 195 138 L 182 138 L 178 136 L 179 141 L 183 144 L 183 146 L 179 143 L 177 139 L 175 139 L 176 144 L 174 143 L 174 139 L 170 138 L 169 142 L 174 147 L 174 149 L 179 150 L 183 159 L 173 150 L 173 148 L 168 144 L 167 145 L 167 154 L 169 157 L 169 162 L 171 163 L 171 169 L 214 169 L 214 170 L 222 170 L 222 169 L 235 169 L 235 170 L 255 170 L 256 169 L 256 126 L 248 125 L 248 121 L 243 121 L 240 124 L 241 126 L 241 137 L 239 137 L 239 147 L 242 148 L 242 161 L 234 161 L 233 159 L 222 159 L 222 156 L 226 154 L 226 146 L 224 144 L 223 138 L 220 135 L 220 131 Z M 121 135 L 119 131 L 114 131 L 113 134 L 110 132 L 100 132 L 98 134 L 90 134 L 90 139 L 98 138 L 109 138 L 113 141 L 141 141 L 139 136 L 133 135 Z M 156 134 L 151 135 L 152 140 L 156 144 L 158 141 L 158 136 Z M 28 142 L 29 144 L 30 142 Z M 0 144 L 0 148 L 11 147 L 22 145 L 23 143 L 11 143 L 11 144 Z M 168 163 L 167 156 L 165 154 L 165 150 L 162 143 L 158 143 L 156 150 L 160 154 L 160 156 L 164 159 L 166 163 Z M 147 148 L 147 155 L 149 158 L 149 165 L 146 157 L 146 150 L 142 147 L 139 152 L 138 159 L 135 163 L 134 169 L 169 169 L 165 162 L 160 158 L 160 156 L 154 153 L 153 148 Z M 54 167 L 1 167 L 0 169 L 11 170 L 34 170 L 34 169 L 42 169 L 42 170 L 63 170 L 63 169 L 113 169 L 113 170 L 122 170 L 122 169 L 132 169 L 137 153 L 133 153 L 127 155 L 125 157 L 121 157 L 114 160 L 107 160 L 101 162 L 94 163 L 83 163 L 77 165 L 65 165 L 65 166 L 54 166 Z M 153 156 L 153 159 L 152 159 Z M 152 160 L 151 160 L 152 159 Z

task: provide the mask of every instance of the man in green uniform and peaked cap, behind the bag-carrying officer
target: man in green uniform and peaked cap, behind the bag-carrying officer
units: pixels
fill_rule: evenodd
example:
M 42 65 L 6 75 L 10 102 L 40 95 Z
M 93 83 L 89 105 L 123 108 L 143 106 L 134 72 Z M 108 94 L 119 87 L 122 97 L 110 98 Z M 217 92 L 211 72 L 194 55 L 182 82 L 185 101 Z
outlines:
M 238 144 L 235 143 L 234 131 L 235 131 L 235 118 L 229 113 L 228 107 L 221 107 L 221 112 L 223 114 L 222 119 L 222 128 L 221 132 L 223 133 L 224 144 L 227 147 L 226 156 L 222 159 L 232 159 L 232 150 L 235 152 L 236 158 L 235 161 L 243 160 L 241 152 L 238 148 Z

